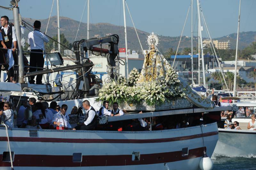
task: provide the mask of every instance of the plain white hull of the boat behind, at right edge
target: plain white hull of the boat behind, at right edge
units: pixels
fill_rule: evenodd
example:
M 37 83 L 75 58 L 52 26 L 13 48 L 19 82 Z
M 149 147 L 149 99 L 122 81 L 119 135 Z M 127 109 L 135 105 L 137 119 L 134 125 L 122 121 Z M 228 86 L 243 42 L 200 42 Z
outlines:
M 223 156 L 256 155 L 256 130 L 219 129 L 214 153 Z

